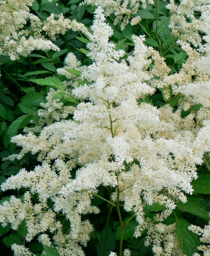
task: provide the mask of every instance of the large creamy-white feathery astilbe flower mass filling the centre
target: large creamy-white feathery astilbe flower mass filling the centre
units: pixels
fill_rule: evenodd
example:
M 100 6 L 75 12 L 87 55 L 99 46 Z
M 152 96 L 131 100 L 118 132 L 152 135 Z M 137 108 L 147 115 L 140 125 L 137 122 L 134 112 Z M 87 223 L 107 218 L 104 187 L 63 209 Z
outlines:
M 1 185 L 3 191 L 20 188 L 28 191 L 23 200 L 12 196 L 0 206 L 0 221 L 3 226 L 11 223 L 16 230 L 25 220 L 26 241 L 38 236 L 43 245 L 53 244 L 62 256 L 84 255 L 79 244 L 87 244 L 93 226 L 88 219 L 83 221 L 82 215 L 97 214 L 99 209 L 91 202 L 93 197 L 100 197 L 109 203 L 105 227 L 112 209 L 116 208 L 118 213 L 119 256 L 124 229 L 132 218 L 137 222 L 134 236 L 139 237 L 147 230 L 145 244 L 152 244 L 155 255 L 183 255 L 175 224 L 163 221 L 178 201 L 185 203 L 186 194 L 192 194 L 190 182 L 197 178 L 196 164 L 201 164 L 204 152 L 210 150 L 208 74 L 199 65 L 203 57 L 188 43 L 179 41 L 189 58 L 178 74 L 169 75 L 164 58 L 145 46 L 144 36 L 134 35 L 134 52 L 126 59 L 125 52 L 115 50 L 115 44 L 109 41 L 113 31 L 101 7 L 95 11 L 91 31 L 87 32 L 90 39 L 87 47 L 92 64 L 81 67 L 70 54 L 67 68 L 75 69 L 75 74 L 81 73 L 79 77 L 67 74 L 66 69 L 57 70 L 69 79 L 63 83 L 66 97 L 70 95 L 81 101 L 66 110 L 73 113 L 73 120 L 59 121 L 62 115 L 59 113 L 59 122 L 51 122 L 53 115 L 56 120 L 55 114 L 51 111 L 50 116 L 47 108 L 58 104 L 57 99 L 52 100 L 56 92 L 51 89 L 48 105 L 43 104 L 45 110 L 39 111 L 42 118 L 46 115 L 48 126 L 37 128 L 39 136 L 26 129 L 26 135 L 12 139 L 22 151 L 10 159 L 32 152 L 38 154 L 42 164 L 30 172 L 20 170 Z M 69 57 L 73 59 L 72 65 Z M 151 63 L 154 65 L 149 69 Z M 191 73 L 195 72 L 197 80 L 191 82 Z M 85 83 L 78 86 L 79 79 Z M 176 111 L 169 104 L 157 109 L 138 101 L 153 95 L 157 88 L 163 89 L 167 98 L 169 86 L 176 98 L 180 95 Z M 201 88 L 205 90 L 202 95 Z M 194 103 L 202 104 L 202 109 L 182 118 L 181 109 L 189 109 Z M 75 167 L 79 168 L 73 177 Z M 109 190 L 109 200 L 97 194 L 99 186 Z M 33 204 L 31 197 L 35 193 L 38 202 Z M 54 203 L 53 208 L 49 207 L 48 199 Z M 145 216 L 143 208 L 153 203 L 165 209 L 151 219 Z M 130 216 L 127 221 L 122 219 L 123 210 Z M 68 233 L 63 232 L 56 215 L 64 215 L 69 221 Z M 52 239 L 47 232 L 53 233 Z M 14 244 L 12 249 L 15 255 L 32 255 L 21 245 Z M 130 255 L 130 251 L 126 249 L 124 255 Z

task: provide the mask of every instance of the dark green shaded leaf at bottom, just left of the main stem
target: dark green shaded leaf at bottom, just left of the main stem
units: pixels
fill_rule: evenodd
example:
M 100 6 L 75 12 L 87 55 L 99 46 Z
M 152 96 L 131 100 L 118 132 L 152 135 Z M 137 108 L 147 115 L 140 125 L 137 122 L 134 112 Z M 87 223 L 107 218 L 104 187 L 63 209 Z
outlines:
M 110 225 L 101 233 L 101 243 L 96 245 L 98 256 L 108 256 L 115 248 L 115 235 Z

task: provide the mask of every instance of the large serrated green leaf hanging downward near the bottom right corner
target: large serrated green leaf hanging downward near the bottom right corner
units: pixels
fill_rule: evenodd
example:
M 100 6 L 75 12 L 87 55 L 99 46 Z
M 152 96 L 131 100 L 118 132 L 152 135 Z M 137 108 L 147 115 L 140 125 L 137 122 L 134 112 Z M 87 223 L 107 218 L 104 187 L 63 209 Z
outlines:
M 198 235 L 188 230 L 190 222 L 183 218 L 176 218 L 176 234 L 179 239 L 180 246 L 187 256 L 192 256 L 197 252 L 197 246 L 199 245 Z

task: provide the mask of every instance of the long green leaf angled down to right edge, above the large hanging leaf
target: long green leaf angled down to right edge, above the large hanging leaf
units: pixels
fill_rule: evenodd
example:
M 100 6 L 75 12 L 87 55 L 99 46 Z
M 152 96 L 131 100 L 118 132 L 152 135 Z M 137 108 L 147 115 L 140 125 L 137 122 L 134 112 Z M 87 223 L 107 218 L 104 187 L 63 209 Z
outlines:
M 182 211 L 192 213 L 200 218 L 204 218 L 205 220 L 210 220 L 208 212 L 205 211 L 205 206 L 200 203 L 193 201 L 187 201 L 186 203 L 179 202 L 177 207 Z

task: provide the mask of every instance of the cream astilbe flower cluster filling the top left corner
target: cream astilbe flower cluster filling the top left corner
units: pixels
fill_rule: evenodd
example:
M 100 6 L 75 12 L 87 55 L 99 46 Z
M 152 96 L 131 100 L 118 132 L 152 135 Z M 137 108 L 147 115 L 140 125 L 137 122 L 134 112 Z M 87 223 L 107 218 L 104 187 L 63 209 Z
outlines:
M 87 31 L 84 24 L 64 19 L 62 13 L 56 19 L 51 14 L 44 23 L 41 22 L 38 16 L 30 13 L 29 6 L 33 2 L 34 0 L 0 1 L 0 54 L 8 55 L 13 61 L 20 56 L 28 56 L 33 50 L 59 51 L 57 45 L 42 35 L 43 31 L 54 41 L 55 34 L 64 34 L 67 29 Z M 26 29 L 27 19 L 31 24 Z

